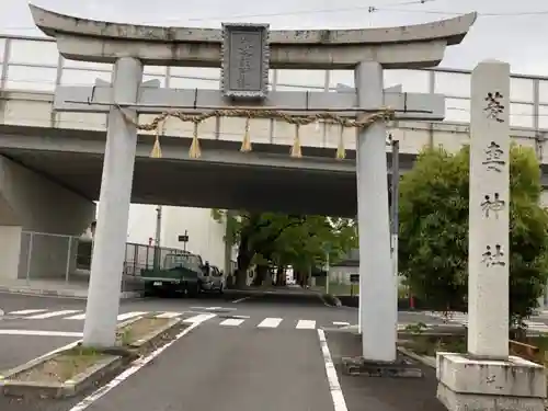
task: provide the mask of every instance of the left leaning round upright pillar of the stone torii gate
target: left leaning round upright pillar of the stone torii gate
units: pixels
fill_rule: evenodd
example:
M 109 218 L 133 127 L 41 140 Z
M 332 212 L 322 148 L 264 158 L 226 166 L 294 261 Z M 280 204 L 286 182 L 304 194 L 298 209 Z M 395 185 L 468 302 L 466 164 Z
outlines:
M 114 65 L 113 101 L 137 103 L 141 79 L 138 59 L 119 58 Z M 135 110 L 125 110 L 129 118 L 137 119 Z M 83 327 L 85 346 L 115 344 L 136 148 L 136 126 L 112 106 Z

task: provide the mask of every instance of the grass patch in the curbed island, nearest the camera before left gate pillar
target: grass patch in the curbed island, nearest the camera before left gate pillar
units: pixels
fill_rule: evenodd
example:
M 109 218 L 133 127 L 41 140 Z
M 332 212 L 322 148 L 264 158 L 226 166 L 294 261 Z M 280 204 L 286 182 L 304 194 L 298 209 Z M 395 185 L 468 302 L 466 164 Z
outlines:
M 11 379 L 23 383 L 62 384 L 107 356 L 93 349 L 77 346 L 21 372 L 12 376 Z

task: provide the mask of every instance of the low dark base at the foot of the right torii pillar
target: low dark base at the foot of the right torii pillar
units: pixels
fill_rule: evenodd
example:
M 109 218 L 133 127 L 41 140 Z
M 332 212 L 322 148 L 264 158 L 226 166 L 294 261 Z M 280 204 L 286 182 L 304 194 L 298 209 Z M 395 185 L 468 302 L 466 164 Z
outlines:
M 377 363 L 362 357 L 343 357 L 343 370 L 347 375 L 363 375 L 366 377 L 392 377 L 392 378 L 421 378 L 422 369 L 413 366 L 413 363 L 398 358 L 395 363 Z

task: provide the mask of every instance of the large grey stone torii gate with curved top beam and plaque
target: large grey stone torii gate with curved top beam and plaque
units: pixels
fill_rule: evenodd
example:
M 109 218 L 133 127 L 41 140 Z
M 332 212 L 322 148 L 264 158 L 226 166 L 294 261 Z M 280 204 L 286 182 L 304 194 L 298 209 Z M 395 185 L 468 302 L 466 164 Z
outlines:
M 57 39 L 65 58 L 114 64 L 112 84 L 60 87 L 55 99 L 58 111 L 109 113 L 83 335 L 84 344 L 96 346 L 110 346 L 115 339 L 138 114 L 167 109 L 196 114 L 238 109 L 244 102 L 251 110 L 290 116 L 334 113 L 350 122 L 357 116 L 359 122 L 388 106 L 396 119 L 439 121 L 445 114 L 443 95 L 385 92 L 383 69 L 438 65 L 446 47 L 459 44 L 476 20 L 470 13 L 391 28 L 270 31 L 267 25 L 225 24 L 210 30 L 98 22 L 34 5 L 31 11 L 35 24 Z M 222 67 L 221 90 L 142 84 L 144 65 Z M 356 91 L 269 92 L 270 68 L 354 69 Z M 380 121 L 358 130 L 361 328 L 375 330 L 363 332 L 363 356 L 389 363 L 396 359 L 397 277 L 390 255 L 386 125 Z M 189 161 L 199 161 L 196 157 L 196 150 L 190 152 Z

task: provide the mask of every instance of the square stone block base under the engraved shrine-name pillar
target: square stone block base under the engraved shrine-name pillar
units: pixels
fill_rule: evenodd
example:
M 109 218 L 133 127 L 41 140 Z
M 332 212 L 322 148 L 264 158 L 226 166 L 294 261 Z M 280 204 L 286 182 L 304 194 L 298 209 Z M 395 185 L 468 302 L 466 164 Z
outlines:
M 545 411 L 545 368 L 523 358 L 437 353 L 436 374 L 437 399 L 449 411 Z

